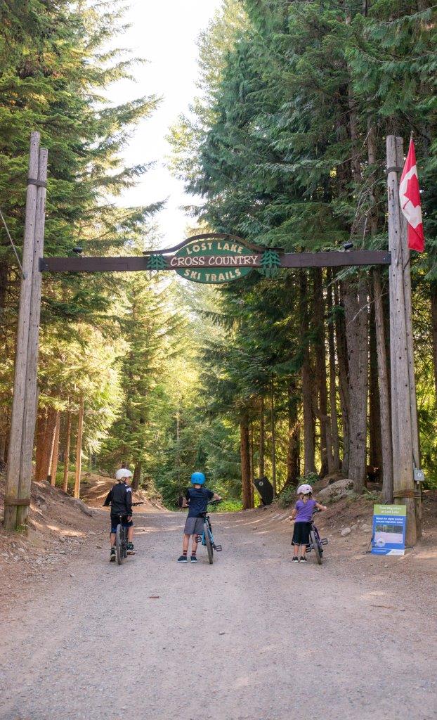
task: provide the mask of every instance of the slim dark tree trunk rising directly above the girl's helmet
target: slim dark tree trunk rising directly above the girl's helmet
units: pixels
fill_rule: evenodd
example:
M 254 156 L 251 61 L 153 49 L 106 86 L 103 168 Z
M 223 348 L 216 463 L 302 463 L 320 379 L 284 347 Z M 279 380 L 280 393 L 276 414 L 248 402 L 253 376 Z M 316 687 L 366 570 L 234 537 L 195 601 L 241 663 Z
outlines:
M 302 362 L 302 405 L 304 420 L 304 474 L 315 472 L 314 461 L 314 416 L 312 414 L 312 377 L 310 349 L 308 347 L 307 276 L 299 272 L 300 311 L 303 344 Z

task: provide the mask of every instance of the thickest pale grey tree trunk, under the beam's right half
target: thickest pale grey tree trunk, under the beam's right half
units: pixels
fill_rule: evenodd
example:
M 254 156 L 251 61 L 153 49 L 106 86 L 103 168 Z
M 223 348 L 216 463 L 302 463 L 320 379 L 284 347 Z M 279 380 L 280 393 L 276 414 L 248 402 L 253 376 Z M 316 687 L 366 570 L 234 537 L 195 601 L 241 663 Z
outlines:
M 361 277 L 358 286 L 345 283 L 346 340 L 348 347 L 349 472 L 353 490 L 363 492 L 366 480 L 367 392 L 369 387 L 369 338 L 367 285 Z

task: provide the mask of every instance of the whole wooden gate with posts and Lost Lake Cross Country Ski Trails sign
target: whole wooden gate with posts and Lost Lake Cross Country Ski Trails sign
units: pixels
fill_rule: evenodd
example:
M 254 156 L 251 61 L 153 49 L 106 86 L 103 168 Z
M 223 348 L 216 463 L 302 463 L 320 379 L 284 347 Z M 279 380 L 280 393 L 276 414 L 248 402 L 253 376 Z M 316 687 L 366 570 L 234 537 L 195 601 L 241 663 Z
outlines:
M 37 143 L 36 140 L 37 139 Z M 390 265 L 390 344 L 392 347 L 392 417 L 395 451 L 395 501 L 407 503 L 407 539 L 413 545 L 420 536 L 420 492 L 414 482 L 413 471 L 418 468 L 417 419 L 415 416 L 415 388 L 413 372 L 413 336 L 411 332 L 411 294 L 405 228 L 402 228 L 397 194 L 397 170 L 400 165 L 400 138 L 387 138 L 387 168 L 389 193 L 389 245 L 390 251 L 347 251 L 320 253 L 284 253 L 280 248 L 263 248 L 247 243 L 237 235 L 204 233 L 173 248 L 128 257 L 75 257 L 42 258 L 44 228 L 45 180 L 44 167 L 35 155 L 39 135 L 32 134 L 30 156 L 30 187 L 27 195 L 26 230 L 24 241 L 24 269 L 20 300 L 17 369 L 14 382 L 12 431 L 6 481 L 5 528 L 17 527 L 17 506 L 30 502 L 30 473 L 32 469 L 35 414 L 24 410 L 26 431 L 23 432 L 24 397 L 35 405 L 37 330 L 41 296 L 42 272 L 135 272 L 173 270 L 193 282 L 222 284 L 233 282 L 256 270 L 273 277 L 281 268 L 344 267 L 364 265 Z M 397 150 L 396 150 L 397 147 Z M 395 148 L 395 150 L 393 150 Z M 45 151 L 42 151 L 43 154 Z M 391 153 L 391 154 L 390 154 Z M 47 161 L 47 154 L 40 163 Z M 35 184 L 35 185 L 34 185 Z M 32 189 L 33 187 L 33 189 Z M 38 193 L 38 202 L 37 202 Z M 37 208 L 35 205 L 37 204 Z M 35 222 L 35 213 L 38 216 Z M 39 213 L 39 215 L 38 215 Z M 39 230 L 35 231 L 35 225 Z M 33 271 L 33 274 L 32 274 Z M 32 290 L 31 282 L 32 279 Z M 33 323 L 30 320 L 30 293 L 32 306 L 38 308 Z M 30 330 L 32 326 L 32 330 Z M 30 355 L 27 351 L 30 348 Z M 402 390 L 402 392 L 401 392 Z M 399 394 L 398 394 L 399 391 Z M 402 395 L 402 402 L 401 400 Z M 35 408 L 34 408 L 35 410 Z M 83 417 L 83 408 L 81 411 Z M 30 425 L 33 427 L 30 428 Z M 78 447 L 80 454 L 80 447 Z M 21 464 L 20 464 L 21 459 Z M 23 461 L 24 459 L 24 461 Z M 25 467 L 24 467 L 25 466 Z M 25 481 L 22 481 L 25 478 Z M 78 494 L 80 475 L 76 473 L 75 494 Z M 24 513 L 19 513 L 24 521 Z

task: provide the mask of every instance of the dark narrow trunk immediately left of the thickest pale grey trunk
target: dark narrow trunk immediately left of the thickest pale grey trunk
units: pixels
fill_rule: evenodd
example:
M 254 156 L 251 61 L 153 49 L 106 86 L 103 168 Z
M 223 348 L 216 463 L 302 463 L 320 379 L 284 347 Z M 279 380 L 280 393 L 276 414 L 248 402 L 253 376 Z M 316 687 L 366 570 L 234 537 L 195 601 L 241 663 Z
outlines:
M 341 404 L 341 423 L 343 427 L 343 462 L 341 472 L 348 477 L 349 472 L 349 412 L 351 399 L 348 386 L 348 351 L 346 347 L 346 323 L 343 315 L 343 299 L 340 300 L 340 293 L 337 284 L 334 285 L 334 300 L 337 308 L 335 312 L 335 344 L 338 357 L 338 390 Z

